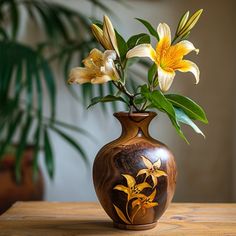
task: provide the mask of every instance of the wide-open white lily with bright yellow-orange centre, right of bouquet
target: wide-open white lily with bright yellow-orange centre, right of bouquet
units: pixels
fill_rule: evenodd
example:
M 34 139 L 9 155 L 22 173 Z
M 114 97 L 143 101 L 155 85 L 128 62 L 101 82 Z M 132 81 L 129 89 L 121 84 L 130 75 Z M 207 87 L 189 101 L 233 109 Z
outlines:
M 199 82 L 200 71 L 195 63 L 189 60 L 183 60 L 183 57 L 191 51 L 199 52 L 194 45 L 183 40 L 175 45 L 171 45 L 170 28 L 165 23 L 160 23 L 157 27 L 160 41 L 153 49 L 151 44 L 140 44 L 130 51 L 126 57 L 149 57 L 157 64 L 158 81 L 160 89 L 166 92 L 175 77 L 175 71 L 192 72 L 196 78 L 196 84 Z

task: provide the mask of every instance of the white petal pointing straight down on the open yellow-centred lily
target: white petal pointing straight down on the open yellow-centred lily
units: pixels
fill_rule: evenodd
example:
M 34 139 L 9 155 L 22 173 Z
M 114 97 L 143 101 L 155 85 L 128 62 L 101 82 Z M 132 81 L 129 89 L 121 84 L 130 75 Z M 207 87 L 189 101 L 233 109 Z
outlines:
M 158 81 L 161 91 L 166 92 L 170 88 L 174 77 L 174 71 L 165 71 L 160 66 L 158 67 Z

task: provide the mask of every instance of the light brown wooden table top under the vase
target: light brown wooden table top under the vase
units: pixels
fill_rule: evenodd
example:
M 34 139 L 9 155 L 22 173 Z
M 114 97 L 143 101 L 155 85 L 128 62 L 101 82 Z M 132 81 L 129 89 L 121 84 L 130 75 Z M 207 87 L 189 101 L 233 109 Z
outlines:
M 155 229 L 124 231 L 97 203 L 18 202 L 0 216 L 0 235 L 236 236 L 236 204 L 173 203 Z

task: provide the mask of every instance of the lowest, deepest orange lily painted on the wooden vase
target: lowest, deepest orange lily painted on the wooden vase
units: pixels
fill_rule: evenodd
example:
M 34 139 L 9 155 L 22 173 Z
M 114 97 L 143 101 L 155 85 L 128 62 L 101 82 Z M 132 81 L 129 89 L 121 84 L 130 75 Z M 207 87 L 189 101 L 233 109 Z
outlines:
M 136 208 L 136 210 L 133 210 L 132 212 L 131 216 L 132 221 L 134 220 L 134 217 L 139 210 L 141 210 L 142 214 L 145 215 L 146 209 L 158 206 L 157 202 L 153 202 L 155 196 L 156 196 L 156 189 L 154 189 L 154 191 L 151 193 L 150 196 L 148 197 L 145 196 L 144 198 L 138 198 L 132 202 L 132 209 Z

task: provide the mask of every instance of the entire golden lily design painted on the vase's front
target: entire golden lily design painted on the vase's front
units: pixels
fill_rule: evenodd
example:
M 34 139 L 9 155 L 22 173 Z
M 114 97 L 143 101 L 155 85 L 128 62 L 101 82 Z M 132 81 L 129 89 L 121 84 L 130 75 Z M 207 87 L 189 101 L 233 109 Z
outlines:
M 137 175 L 133 177 L 129 174 L 122 174 L 125 178 L 127 186 L 116 185 L 113 189 L 122 191 L 127 195 L 125 203 L 125 212 L 113 204 L 117 215 L 125 224 L 134 224 L 135 217 L 138 212 L 145 216 L 148 208 L 153 208 L 158 206 L 158 202 L 154 201 L 157 196 L 157 186 L 158 178 L 161 176 L 167 176 L 166 172 L 161 170 L 161 159 L 152 163 L 147 157 L 141 156 L 143 163 L 146 168 L 138 171 Z M 137 183 L 137 177 L 144 175 L 144 181 L 142 183 Z M 151 178 L 152 185 L 147 182 L 147 179 Z M 152 189 L 151 194 L 147 195 L 143 193 L 146 188 Z M 129 210 L 131 206 L 131 210 Z

